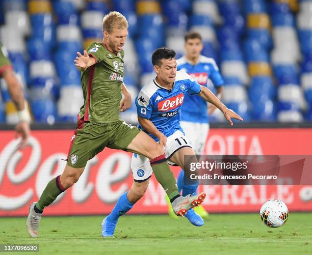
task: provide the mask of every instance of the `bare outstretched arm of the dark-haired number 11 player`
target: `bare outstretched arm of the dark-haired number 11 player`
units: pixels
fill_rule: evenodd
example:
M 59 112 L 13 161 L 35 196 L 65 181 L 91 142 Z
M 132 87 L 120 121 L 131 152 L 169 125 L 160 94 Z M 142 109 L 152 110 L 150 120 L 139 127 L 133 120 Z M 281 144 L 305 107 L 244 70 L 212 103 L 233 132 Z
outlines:
M 200 87 L 200 92 L 197 94 L 198 96 L 202 97 L 205 101 L 212 103 L 215 105 L 217 108 L 219 108 L 223 115 L 224 118 L 230 123 L 230 125 L 233 125 L 233 122 L 231 119 L 237 119 L 240 121 L 243 121 L 243 118 L 240 117 L 235 111 L 228 109 L 226 105 L 224 105 L 217 96 L 212 93 L 209 89 L 201 86 Z

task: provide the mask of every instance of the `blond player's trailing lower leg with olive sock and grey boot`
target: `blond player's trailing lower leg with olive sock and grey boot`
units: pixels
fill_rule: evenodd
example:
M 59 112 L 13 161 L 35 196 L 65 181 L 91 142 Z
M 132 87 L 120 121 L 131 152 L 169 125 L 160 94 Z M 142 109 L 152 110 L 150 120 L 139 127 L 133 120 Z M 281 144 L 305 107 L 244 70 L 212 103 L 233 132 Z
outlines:
M 43 209 L 52 204 L 59 194 L 74 185 L 74 183 L 79 180 L 84 169 L 85 167 L 73 168 L 66 165 L 62 175 L 49 181 L 43 190 L 39 201 L 37 203 L 32 203 L 29 207 L 26 226 L 30 237 L 38 236 L 39 223 Z

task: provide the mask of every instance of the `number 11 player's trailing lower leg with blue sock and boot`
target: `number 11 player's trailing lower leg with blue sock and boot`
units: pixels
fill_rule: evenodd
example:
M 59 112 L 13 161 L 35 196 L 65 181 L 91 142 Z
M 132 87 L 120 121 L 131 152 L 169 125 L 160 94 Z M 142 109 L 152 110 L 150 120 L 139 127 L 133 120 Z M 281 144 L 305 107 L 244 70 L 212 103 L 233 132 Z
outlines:
M 114 235 L 118 218 L 141 199 L 148 187 L 148 183 L 149 179 L 144 182 L 133 182 L 131 189 L 119 197 L 113 211 L 102 221 L 103 237 L 112 237 Z

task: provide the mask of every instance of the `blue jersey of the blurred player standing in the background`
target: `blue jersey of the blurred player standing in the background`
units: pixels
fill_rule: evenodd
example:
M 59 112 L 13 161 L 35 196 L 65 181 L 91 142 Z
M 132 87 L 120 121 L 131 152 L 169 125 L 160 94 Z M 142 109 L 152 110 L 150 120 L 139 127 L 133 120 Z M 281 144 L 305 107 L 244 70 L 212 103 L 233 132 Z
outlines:
M 216 62 L 212 58 L 200 55 L 196 65 L 191 64 L 185 56 L 176 61 L 177 69 L 187 72 L 200 85 L 215 93 L 215 87 L 223 84 L 223 79 Z M 210 82 L 213 82 L 213 84 Z M 181 106 L 181 120 L 189 122 L 207 123 L 207 102 L 199 96 L 186 95 Z

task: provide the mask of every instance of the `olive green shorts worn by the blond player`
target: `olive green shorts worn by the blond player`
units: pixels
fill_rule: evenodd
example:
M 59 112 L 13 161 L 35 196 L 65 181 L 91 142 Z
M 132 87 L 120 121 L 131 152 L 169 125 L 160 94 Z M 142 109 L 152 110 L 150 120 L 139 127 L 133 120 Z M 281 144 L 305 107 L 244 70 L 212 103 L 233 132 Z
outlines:
M 85 167 L 88 160 L 105 147 L 126 151 L 139 132 L 140 129 L 123 120 L 114 123 L 90 123 L 79 120 L 71 139 L 67 165 L 74 168 Z

